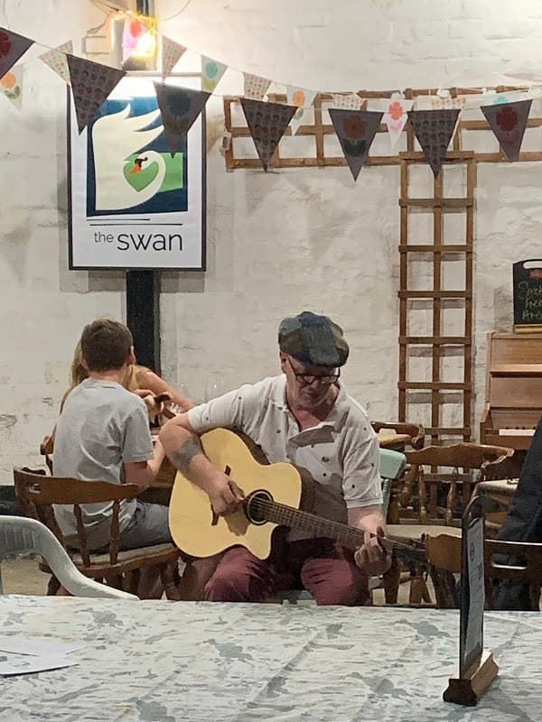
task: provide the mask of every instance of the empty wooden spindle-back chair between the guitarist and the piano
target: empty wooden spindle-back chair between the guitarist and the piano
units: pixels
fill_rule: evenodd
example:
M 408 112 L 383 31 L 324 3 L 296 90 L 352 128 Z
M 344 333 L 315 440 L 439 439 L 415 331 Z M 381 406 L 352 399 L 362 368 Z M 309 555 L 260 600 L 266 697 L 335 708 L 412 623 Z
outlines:
M 469 503 L 474 486 L 488 478 L 504 474 L 505 462 L 514 449 L 485 444 L 461 443 L 453 446 L 429 446 L 418 451 L 406 451 L 410 469 L 399 496 L 400 516 L 416 515 L 419 523 L 459 523 L 462 509 L 455 513 L 457 492 L 461 489 L 463 509 Z M 429 473 L 426 471 L 429 467 Z M 451 472 L 441 471 L 451 468 Z M 460 471 L 461 469 L 461 471 Z M 476 475 L 472 474 L 476 471 Z M 417 487 L 418 509 L 409 509 L 413 502 L 413 486 Z M 439 504 L 439 492 L 446 491 L 445 505 Z M 454 521 L 455 516 L 455 521 Z

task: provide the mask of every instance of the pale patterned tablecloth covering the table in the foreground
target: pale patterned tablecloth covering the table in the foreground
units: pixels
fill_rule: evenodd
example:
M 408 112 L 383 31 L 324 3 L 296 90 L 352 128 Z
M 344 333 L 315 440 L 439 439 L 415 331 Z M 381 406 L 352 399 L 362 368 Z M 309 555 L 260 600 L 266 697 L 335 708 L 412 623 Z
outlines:
M 477 708 L 442 701 L 455 611 L 13 596 L 0 620 L 84 642 L 78 666 L 0 678 L 5 722 L 542 719 L 534 613 L 487 614 L 500 677 Z

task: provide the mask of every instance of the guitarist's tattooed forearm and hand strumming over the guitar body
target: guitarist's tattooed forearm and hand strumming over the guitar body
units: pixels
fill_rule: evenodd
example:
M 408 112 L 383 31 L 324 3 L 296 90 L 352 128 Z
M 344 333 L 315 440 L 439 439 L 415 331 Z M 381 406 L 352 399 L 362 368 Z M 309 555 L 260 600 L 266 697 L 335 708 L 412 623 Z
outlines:
M 160 431 L 160 440 L 173 467 L 209 496 L 215 514 L 231 514 L 237 509 L 243 495 L 235 481 L 205 456 L 188 414 L 182 413 L 168 421 Z

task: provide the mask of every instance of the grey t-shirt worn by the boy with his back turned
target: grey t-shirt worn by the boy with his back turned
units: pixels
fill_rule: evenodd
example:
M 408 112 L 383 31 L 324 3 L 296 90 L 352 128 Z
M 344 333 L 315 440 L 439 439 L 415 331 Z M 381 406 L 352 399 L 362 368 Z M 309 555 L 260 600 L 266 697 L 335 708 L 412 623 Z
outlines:
M 55 477 L 124 483 L 124 463 L 154 457 L 145 403 L 114 381 L 85 379 L 64 403 L 54 439 Z M 109 540 L 113 504 L 85 504 L 83 520 L 90 549 Z M 120 530 L 135 512 L 135 499 L 120 505 Z M 75 545 L 73 508 L 56 505 L 55 515 L 66 542 Z

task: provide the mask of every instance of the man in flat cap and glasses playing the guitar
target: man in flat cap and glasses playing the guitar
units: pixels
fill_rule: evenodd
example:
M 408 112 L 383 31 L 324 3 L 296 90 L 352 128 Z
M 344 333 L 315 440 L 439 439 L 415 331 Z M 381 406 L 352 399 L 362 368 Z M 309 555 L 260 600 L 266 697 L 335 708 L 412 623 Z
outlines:
M 278 331 L 282 374 L 201 404 L 163 427 L 160 439 L 173 463 L 210 496 L 215 514 L 242 502 L 235 480 L 210 464 L 198 435 L 217 427 L 242 431 L 271 462 L 308 471 L 314 514 L 365 531 L 356 551 L 307 532 L 275 533 L 271 554 L 259 560 L 234 546 L 224 553 L 205 587 L 209 601 L 257 602 L 300 583 L 321 605 L 357 606 L 369 597 L 368 575 L 389 567 L 378 543 L 380 512 L 378 440 L 366 412 L 339 384 L 349 347 L 326 316 L 304 311 Z

